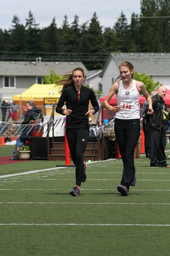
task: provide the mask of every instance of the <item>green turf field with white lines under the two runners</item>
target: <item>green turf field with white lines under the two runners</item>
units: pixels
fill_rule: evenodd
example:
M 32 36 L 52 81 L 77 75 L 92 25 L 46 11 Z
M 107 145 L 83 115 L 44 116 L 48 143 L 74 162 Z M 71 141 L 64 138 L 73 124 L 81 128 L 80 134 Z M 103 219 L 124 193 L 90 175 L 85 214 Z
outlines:
M 0 256 L 169 255 L 170 169 L 135 159 L 137 184 L 123 197 L 121 159 L 91 162 L 72 197 L 75 170 L 61 163 L 0 165 Z

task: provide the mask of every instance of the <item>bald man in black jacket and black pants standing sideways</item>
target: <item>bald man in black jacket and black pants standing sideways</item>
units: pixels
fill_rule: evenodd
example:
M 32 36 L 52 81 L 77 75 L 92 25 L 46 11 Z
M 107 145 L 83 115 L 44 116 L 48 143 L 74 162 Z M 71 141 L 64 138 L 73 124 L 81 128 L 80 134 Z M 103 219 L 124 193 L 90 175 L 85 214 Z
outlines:
M 149 116 L 146 121 L 151 127 L 150 139 L 150 155 L 151 167 L 167 167 L 167 158 L 165 155 L 166 146 L 166 116 L 163 111 L 167 110 L 167 105 L 164 101 L 166 96 L 166 87 L 160 86 L 157 94 L 152 97 L 152 106 L 154 114 Z

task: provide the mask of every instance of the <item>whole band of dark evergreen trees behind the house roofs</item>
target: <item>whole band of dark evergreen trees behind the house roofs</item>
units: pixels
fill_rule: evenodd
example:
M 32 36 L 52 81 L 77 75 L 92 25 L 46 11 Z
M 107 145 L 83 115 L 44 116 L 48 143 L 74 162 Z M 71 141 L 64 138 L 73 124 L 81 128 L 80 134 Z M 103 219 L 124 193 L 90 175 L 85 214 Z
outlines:
M 131 22 L 123 12 L 112 28 L 100 25 L 97 14 L 79 24 L 67 15 L 57 27 L 52 23 L 40 29 L 30 11 L 26 24 L 15 15 L 10 29 L 0 29 L 1 60 L 82 61 L 87 69 L 101 69 L 111 52 L 170 52 L 170 1 L 141 0 L 141 13 L 132 13 Z

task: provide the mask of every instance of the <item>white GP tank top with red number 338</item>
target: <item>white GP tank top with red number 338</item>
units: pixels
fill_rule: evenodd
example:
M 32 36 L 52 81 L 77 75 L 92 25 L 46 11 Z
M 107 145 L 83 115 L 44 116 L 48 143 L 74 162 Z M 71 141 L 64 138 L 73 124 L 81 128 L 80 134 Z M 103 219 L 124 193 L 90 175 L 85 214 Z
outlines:
M 120 80 L 119 89 L 116 93 L 117 105 L 121 106 L 121 110 L 116 113 L 118 119 L 137 119 L 139 115 L 139 90 L 133 79 L 133 85 L 130 90 L 125 90 L 123 81 Z

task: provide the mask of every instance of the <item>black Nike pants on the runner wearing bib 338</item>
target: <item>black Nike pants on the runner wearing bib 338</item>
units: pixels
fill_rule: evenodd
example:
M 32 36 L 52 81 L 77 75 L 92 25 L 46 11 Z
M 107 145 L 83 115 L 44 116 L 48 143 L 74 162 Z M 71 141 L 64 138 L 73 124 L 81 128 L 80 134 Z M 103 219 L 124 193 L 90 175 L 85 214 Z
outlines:
M 115 135 L 123 162 L 121 185 L 128 189 L 134 174 L 134 151 L 140 136 L 140 119 L 115 118 Z

